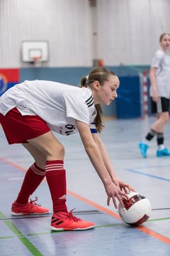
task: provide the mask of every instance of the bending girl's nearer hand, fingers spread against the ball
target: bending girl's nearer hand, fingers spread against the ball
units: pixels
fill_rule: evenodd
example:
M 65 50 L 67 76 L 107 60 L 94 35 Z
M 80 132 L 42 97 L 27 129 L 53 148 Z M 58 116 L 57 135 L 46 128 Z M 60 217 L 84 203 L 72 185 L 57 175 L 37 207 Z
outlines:
M 106 193 L 108 195 L 108 200 L 107 200 L 108 206 L 109 206 L 111 198 L 112 198 L 113 205 L 115 206 L 116 209 L 118 209 L 117 203 L 115 201 L 115 198 L 117 198 L 118 201 L 120 202 L 121 206 L 124 207 L 122 197 L 125 196 L 125 198 L 129 199 L 128 195 L 126 193 L 121 191 L 120 188 L 118 186 L 116 186 L 115 183 L 113 183 L 113 182 L 106 185 L 105 189 L 106 189 Z

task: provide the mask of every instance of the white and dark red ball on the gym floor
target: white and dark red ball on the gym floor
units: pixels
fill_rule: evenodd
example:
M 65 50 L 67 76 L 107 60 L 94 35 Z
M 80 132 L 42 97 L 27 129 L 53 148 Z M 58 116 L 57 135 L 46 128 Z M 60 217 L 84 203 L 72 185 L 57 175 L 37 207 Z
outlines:
M 123 197 L 124 208 L 118 206 L 120 218 L 127 224 L 137 226 L 147 221 L 151 215 L 151 205 L 141 193 L 130 192 L 128 198 Z

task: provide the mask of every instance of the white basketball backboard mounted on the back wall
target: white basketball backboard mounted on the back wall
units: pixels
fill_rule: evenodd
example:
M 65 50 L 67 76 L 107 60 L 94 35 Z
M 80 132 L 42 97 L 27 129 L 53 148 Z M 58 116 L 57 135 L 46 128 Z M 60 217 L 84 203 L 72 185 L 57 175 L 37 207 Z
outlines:
M 21 53 L 23 62 L 45 62 L 49 60 L 48 41 L 22 41 Z

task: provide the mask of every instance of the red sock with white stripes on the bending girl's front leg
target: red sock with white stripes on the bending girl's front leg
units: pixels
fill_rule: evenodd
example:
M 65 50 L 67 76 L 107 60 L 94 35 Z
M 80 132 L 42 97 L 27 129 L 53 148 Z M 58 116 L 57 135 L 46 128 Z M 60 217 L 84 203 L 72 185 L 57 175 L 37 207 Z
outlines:
M 45 176 L 53 203 L 53 211 L 67 212 L 66 206 L 66 174 L 62 160 L 46 161 Z

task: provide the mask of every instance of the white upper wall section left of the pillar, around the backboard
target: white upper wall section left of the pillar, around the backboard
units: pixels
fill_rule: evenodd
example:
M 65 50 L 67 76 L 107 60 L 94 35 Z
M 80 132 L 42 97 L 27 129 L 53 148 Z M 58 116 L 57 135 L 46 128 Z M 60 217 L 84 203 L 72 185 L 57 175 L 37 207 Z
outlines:
M 49 41 L 50 67 L 91 65 L 86 0 L 1 0 L 0 29 L 0 68 L 26 66 L 21 62 L 24 40 Z

